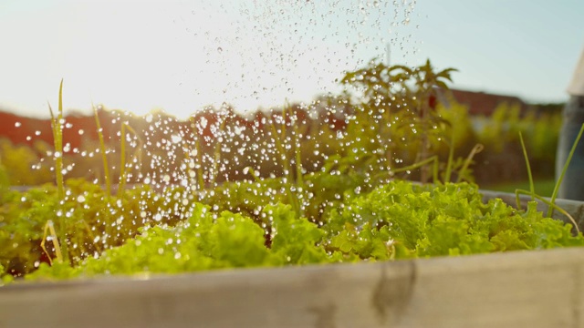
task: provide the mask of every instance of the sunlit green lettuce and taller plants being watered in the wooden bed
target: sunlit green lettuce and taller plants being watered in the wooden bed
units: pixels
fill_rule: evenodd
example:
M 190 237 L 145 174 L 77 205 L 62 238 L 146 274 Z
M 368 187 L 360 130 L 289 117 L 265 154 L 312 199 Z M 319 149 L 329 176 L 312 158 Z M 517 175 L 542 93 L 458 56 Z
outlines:
M 93 180 L 67 176 L 61 82 L 57 113 L 51 109 L 55 183 L 11 189 L 0 162 L 2 281 L 584 245 L 575 222 L 550 219 L 535 201 L 525 209 L 483 201 L 471 170 L 483 146 L 455 155 L 465 132 L 435 104 L 438 93 L 448 92 L 452 72 L 436 72 L 429 60 L 420 67 L 372 60 L 347 73 L 346 92 L 328 97 L 329 110 L 350 108 L 343 130 L 327 122 L 311 128 L 285 105 L 250 131 L 228 124 L 233 113 L 226 111 L 214 124 L 193 120 L 184 133 L 194 137 L 169 136 L 157 157 L 142 154 L 149 140 L 121 121 L 116 163 L 96 110 L 102 168 Z M 204 128 L 213 129 L 213 139 L 200 137 Z M 529 148 L 523 150 L 528 163 Z M 239 157 L 255 165 L 229 179 L 225 172 Z M 181 169 L 141 175 L 163 158 Z M 518 193 L 538 198 L 533 189 Z M 562 211 L 554 198 L 548 203 Z

